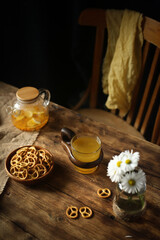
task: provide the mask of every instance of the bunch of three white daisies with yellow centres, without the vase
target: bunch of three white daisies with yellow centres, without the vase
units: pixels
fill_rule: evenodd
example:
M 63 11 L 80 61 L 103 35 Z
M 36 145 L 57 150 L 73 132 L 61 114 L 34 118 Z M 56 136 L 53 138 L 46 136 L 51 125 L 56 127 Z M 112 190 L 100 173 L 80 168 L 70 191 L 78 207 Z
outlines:
M 138 168 L 139 159 L 139 152 L 126 150 L 113 156 L 108 164 L 107 176 L 129 194 L 141 192 L 146 185 L 145 173 Z

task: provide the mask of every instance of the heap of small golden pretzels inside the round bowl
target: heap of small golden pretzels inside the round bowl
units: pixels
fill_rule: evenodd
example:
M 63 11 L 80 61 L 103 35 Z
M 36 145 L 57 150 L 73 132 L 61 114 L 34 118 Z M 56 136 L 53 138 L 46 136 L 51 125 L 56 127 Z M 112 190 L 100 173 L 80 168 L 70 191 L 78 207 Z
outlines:
M 10 173 L 20 180 L 34 180 L 45 175 L 52 165 L 52 156 L 45 150 L 22 147 L 10 160 Z

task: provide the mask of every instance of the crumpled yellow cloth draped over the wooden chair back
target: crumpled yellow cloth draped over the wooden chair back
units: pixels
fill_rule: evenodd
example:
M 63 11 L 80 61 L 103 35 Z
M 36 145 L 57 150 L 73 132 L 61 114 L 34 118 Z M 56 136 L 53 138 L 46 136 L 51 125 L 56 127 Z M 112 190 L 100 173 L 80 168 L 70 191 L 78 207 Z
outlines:
M 106 106 L 125 115 L 141 69 L 142 14 L 130 10 L 107 10 L 107 51 L 102 66 Z

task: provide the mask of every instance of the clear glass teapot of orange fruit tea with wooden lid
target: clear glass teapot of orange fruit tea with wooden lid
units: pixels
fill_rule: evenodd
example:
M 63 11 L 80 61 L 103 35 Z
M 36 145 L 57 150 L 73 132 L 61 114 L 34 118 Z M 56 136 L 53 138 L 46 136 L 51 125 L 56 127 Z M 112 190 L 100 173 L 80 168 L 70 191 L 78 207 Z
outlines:
M 23 87 L 16 92 L 16 101 L 7 111 L 15 127 L 24 131 L 36 131 L 49 119 L 50 92 L 46 89 Z

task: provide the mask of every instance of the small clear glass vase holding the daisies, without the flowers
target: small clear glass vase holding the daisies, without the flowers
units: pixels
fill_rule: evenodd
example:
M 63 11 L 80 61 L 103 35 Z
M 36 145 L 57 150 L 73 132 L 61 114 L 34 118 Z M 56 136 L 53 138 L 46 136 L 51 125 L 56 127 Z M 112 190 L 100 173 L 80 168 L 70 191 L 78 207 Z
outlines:
M 121 184 L 116 187 L 116 195 L 113 199 L 113 211 L 117 218 L 125 221 L 134 221 L 141 217 L 146 209 L 145 199 L 146 185 L 141 192 L 129 194 L 122 190 Z

